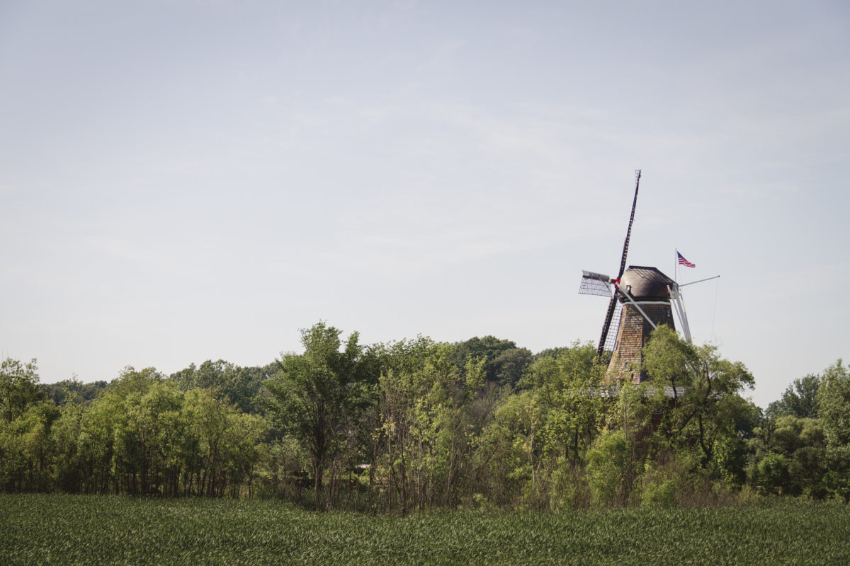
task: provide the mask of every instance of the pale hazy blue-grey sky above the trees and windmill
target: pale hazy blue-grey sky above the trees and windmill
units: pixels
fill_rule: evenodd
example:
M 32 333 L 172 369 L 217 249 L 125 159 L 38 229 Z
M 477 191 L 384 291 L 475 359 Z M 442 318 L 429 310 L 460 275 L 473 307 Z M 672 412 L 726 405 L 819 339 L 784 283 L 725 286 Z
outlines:
M 846 2 L 0 3 L 0 354 L 42 382 L 598 339 L 672 276 L 753 400 L 850 358 Z

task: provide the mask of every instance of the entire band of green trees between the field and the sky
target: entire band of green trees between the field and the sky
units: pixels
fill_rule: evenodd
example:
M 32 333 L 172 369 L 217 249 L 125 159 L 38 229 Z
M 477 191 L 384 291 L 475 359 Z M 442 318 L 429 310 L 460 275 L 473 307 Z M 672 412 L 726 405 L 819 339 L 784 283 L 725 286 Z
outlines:
M 0 490 L 279 497 L 322 509 L 700 505 L 850 499 L 850 376 L 800 378 L 766 411 L 740 362 L 660 327 L 640 385 L 592 345 L 493 337 L 361 345 L 323 322 L 265 367 L 38 384 L 0 367 Z

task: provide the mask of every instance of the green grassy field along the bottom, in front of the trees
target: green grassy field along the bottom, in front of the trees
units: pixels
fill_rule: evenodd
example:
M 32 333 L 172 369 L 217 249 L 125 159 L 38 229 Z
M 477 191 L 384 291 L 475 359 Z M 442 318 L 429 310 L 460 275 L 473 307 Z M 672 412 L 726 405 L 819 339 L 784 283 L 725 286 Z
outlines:
M 0 564 L 848 564 L 850 507 L 405 518 L 280 502 L 0 495 Z

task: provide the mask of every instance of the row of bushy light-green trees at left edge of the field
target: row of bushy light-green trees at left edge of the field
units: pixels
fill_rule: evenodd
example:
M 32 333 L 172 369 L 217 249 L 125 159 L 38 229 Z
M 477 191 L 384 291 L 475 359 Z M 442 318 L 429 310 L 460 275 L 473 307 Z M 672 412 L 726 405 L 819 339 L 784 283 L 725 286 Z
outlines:
M 94 401 L 31 401 L 0 427 L 4 490 L 237 496 L 252 490 L 267 425 L 153 368 L 125 368 Z

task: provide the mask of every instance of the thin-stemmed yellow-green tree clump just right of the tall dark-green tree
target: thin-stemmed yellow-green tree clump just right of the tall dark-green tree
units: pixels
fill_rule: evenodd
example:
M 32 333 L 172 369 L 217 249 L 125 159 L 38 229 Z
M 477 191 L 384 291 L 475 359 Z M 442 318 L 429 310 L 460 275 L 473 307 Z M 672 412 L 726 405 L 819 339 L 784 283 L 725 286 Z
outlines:
M 454 346 L 418 339 L 393 348 L 379 387 L 379 467 L 389 508 L 457 502 L 469 488 L 484 361 L 456 367 Z

